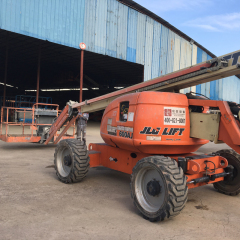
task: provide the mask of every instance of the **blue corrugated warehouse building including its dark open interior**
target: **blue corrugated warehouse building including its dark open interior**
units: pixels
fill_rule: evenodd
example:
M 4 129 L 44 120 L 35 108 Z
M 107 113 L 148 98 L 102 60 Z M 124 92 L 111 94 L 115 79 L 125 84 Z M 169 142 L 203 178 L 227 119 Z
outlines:
M 215 57 L 131 0 L 1 0 L 2 104 L 4 98 L 36 96 L 38 85 L 44 101 L 61 107 L 79 101 L 81 42 L 83 100 Z M 233 76 L 181 92 L 239 102 L 238 89 Z

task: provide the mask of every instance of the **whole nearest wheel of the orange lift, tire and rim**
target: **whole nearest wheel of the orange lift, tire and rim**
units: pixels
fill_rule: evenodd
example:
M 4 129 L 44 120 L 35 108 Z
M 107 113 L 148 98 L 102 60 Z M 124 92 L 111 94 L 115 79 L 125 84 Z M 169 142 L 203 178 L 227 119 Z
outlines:
M 185 207 L 188 188 L 175 160 L 152 156 L 143 158 L 133 168 L 131 192 L 144 218 L 162 221 L 178 215 Z

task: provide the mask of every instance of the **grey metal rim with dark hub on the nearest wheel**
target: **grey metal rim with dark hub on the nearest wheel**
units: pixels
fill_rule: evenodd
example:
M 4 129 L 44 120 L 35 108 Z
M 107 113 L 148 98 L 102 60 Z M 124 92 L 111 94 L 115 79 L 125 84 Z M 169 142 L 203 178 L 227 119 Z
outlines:
M 153 191 L 152 187 L 155 187 Z M 142 167 L 138 172 L 135 179 L 135 190 L 138 202 L 148 212 L 157 212 L 164 203 L 165 184 L 160 172 L 154 166 Z

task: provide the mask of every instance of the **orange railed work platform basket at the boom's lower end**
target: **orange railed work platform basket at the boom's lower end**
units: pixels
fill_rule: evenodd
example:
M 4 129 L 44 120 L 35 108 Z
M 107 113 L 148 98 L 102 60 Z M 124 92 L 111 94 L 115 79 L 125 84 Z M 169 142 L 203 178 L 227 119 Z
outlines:
M 61 112 L 59 105 L 46 103 L 35 103 L 32 108 L 2 107 L 0 139 L 5 142 L 32 143 L 48 140 L 47 143 L 49 143 L 56 142 L 56 139 L 59 141 L 66 138 L 74 138 L 75 122 L 71 121 L 69 126 L 69 122 L 66 121 L 61 127 L 64 124 L 68 125 L 68 129 L 72 127 L 72 131 L 62 133 L 59 127 L 51 136 L 51 139 L 48 139 L 48 130 L 58 119 Z M 43 117 L 39 118 L 39 114 Z M 48 119 L 48 116 L 51 117 Z M 43 131 L 45 131 L 46 138 L 43 138 Z M 72 133 L 69 134 L 69 132 Z

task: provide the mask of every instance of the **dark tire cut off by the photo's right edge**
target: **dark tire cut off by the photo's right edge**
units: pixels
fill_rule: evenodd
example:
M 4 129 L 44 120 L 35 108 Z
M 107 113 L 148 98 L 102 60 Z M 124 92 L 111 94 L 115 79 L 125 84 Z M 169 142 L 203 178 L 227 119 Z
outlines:
M 234 167 L 233 179 L 231 181 L 216 182 L 214 188 L 220 193 L 235 196 L 240 193 L 240 155 L 232 149 L 224 149 L 216 152 L 228 160 L 228 165 Z

